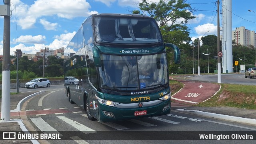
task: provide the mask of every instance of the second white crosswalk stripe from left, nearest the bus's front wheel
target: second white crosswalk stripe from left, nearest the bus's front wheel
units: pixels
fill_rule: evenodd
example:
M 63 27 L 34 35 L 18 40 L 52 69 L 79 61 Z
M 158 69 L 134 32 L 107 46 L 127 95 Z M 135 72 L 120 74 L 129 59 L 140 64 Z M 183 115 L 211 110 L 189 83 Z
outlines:
M 95 130 L 88 128 L 87 126 L 80 124 L 77 121 L 71 120 L 71 119 L 67 118 L 66 116 L 57 116 L 57 117 L 60 118 L 61 120 L 63 120 L 64 122 L 70 124 L 74 128 L 80 130 L 81 132 L 96 132 Z

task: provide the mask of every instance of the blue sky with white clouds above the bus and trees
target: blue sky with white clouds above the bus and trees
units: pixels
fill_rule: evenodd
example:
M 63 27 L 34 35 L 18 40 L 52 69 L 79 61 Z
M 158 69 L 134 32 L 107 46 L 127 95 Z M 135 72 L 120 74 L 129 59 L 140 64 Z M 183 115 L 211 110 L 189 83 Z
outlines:
M 159 0 L 148 0 L 159 2 Z M 192 40 L 217 36 L 217 0 L 187 0 L 197 11 L 188 22 Z M 221 1 L 221 0 L 220 0 Z M 131 14 L 141 0 L 11 0 L 10 55 L 16 49 L 36 53 L 44 47 L 66 47 L 82 22 L 96 13 Z M 1 1 L 0 5 L 4 5 Z M 221 9 L 222 3 L 220 3 Z M 232 30 L 256 31 L 256 0 L 232 0 Z M 249 12 L 253 10 L 254 12 Z M 221 20 L 220 15 L 220 20 Z M 3 54 L 4 16 L 0 16 L 0 55 Z

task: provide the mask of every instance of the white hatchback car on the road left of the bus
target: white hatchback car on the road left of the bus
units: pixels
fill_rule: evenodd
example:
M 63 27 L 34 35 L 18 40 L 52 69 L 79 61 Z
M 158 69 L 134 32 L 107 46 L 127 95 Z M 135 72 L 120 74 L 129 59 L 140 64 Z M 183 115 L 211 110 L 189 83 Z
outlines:
M 37 88 L 37 87 L 50 87 L 51 82 L 45 78 L 33 79 L 30 82 L 26 83 L 25 87 L 29 88 Z

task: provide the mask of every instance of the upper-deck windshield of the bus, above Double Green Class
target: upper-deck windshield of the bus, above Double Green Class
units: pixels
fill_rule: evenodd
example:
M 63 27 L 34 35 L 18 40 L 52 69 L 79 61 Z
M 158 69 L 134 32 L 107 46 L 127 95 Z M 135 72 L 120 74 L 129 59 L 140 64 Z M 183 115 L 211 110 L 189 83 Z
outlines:
M 149 18 L 97 16 L 94 20 L 94 32 L 99 43 L 162 42 L 156 21 Z

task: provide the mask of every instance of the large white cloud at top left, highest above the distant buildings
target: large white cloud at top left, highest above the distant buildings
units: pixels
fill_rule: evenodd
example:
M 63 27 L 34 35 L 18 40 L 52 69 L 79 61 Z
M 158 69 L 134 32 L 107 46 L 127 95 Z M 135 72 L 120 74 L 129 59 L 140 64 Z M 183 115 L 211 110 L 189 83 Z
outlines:
M 33 28 L 37 19 L 42 16 L 72 19 L 98 13 L 89 10 L 91 6 L 86 0 L 36 0 L 31 6 L 19 0 L 16 1 L 18 1 L 16 2 L 17 24 L 22 29 Z

